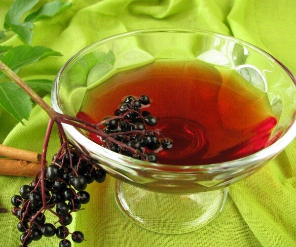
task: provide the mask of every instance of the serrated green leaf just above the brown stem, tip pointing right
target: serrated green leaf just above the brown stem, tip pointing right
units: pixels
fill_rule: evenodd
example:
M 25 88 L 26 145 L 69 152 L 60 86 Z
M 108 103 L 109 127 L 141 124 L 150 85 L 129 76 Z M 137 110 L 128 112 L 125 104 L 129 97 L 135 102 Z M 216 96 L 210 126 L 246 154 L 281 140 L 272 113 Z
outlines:
M 24 44 L 8 50 L 3 55 L 2 62 L 17 73 L 21 67 L 47 56 L 62 56 L 62 54 L 48 47 Z M 4 77 L 4 74 L 0 73 L 0 78 L 2 77 Z

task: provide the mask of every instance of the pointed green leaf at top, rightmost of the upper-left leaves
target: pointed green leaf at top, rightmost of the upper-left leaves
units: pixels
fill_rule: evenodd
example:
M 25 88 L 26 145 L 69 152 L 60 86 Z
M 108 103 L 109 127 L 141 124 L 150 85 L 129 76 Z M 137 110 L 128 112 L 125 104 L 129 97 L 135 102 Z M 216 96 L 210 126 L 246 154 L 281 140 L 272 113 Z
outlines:
M 25 21 L 36 21 L 41 18 L 52 17 L 56 14 L 64 11 L 72 5 L 70 2 L 62 2 L 60 0 L 55 0 L 45 3 L 36 12 L 28 15 Z

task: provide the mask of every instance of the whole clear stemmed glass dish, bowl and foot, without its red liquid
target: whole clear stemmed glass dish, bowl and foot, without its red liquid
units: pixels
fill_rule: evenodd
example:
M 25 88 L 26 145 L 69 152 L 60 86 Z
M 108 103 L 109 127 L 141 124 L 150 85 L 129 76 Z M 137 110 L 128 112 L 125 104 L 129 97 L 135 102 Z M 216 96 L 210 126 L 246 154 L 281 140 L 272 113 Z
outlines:
M 277 122 L 266 143 L 254 153 L 201 165 L 198 161 L 199 165 L 170 165 L 136 160 L 100 146 L 73 126 L 63 125 L 69 139 L 117 179 L 115 199 L 129 219 L 154 232 L 180 234 L 211 222 L 222 210 L 227 186 L 259 170 L 295 138 L 296 80 L 271 55 L 233 37 L 198 30 L 148 29 L 119 34 L 76 53 L 56 77 L 52 106 L 57 112 L 76 116 L 84 102 L 92 100 L 87 98 L 88 90 L 108 83 L 122 71 L 158 59 L 202 61 L 231 70 L 264 94 Z

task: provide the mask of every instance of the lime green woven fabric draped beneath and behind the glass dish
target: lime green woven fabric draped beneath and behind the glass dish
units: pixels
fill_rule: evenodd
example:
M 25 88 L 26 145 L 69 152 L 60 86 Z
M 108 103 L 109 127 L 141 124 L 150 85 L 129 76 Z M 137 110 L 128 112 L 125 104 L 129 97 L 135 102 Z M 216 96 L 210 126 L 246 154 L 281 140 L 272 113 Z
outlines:
M 45 0 L 41 2 L 46 2 Z M 0 26 L 12 0 L 0 1 Z M 295 0 L 76 0 L 51 19 L 35 24 L 33 45 L 45 45 L 63 57 L 48 57 L 20 70 L 23 78 L 54 78 L 79 49 L 99 39 L 142 28 L 178 27 L 215 31 L 249 41 L 270 52 L 296 73 Z M 22 42 L 12 36 L 5 42 Z M 50 102 L 49 96 L 45 97 Z M 47 125 L 36 107 L 26 125 L 0 111 L 0 140 L 5 145 L 40 152 Z M 14 127 L 14 128 L 13 128 Z M 9 134 L 8 134 L 9 133 Z M 56 131 L 49 159 L 58 149 Z M 76 213 L 70 231 L 81 230 L 85 247 L 295 247 L 296 246 L 296 140 L 274 161 L 251 177 L 229 187 L 222 213 L 204 228 L 183 235 L 144 230 L 121 213 L 113 194 L 114 179 L 91 184 L 91 202 Z M 11 208 L 10 198 L 31 179 L 0 176 L 0 204 Z M 180 212 L 182 213 L 182 212 Z M 18 220 L 0 214 L 0 246 L 19 246 Z M 57 238 L 42 238 L 35 247 L 58 246 Z

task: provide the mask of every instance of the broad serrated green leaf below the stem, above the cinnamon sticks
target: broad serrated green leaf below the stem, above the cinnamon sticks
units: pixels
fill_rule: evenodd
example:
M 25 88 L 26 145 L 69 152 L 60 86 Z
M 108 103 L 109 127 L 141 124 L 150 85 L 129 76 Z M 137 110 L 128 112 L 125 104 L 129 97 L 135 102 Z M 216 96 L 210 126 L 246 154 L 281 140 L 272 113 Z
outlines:
M 0 105 L 22 124 L 23 119 L 29 119 L 32 110 L 29 95 L 13 82 L 0 83 Z

